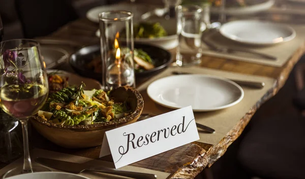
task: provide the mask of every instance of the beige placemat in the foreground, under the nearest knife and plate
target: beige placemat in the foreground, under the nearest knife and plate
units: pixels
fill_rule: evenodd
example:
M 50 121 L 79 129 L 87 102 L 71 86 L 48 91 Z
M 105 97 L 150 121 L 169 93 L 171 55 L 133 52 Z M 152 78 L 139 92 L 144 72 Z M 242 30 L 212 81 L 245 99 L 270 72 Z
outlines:
M 75 162 L 75 163 L 86 163 L 86 164 L 90 164 L 90 165 L 93 165 L 96 167 L 105 166 L 105 167 L 114 168 L 114 164 L 111 162 L 106 162 L 106 161 L 102 161 L 102 160 L 94 160 L 94 159 L 90 159 L 90 158 L 86 158 L 86 157 L 63 154 L 63 153 L 52 152 L 52 151 L 47 151 L 47 150 L 42 150 L 42 149 L 34 149 L 31 151 L 31 158 L 32 158 L 33 165 L 43 166 L 34 161 L 34 159 L 37 157 L 64 160 L 64 161 Z M 13 163 L 9 164 L 8 166 L 6 166 L 0 170 L 0 176 L 2 176 L 4 173 L 9 171 L 10 169 L 13 169 L 13 168 L 19 167 L 19 166 L 22 167 L 22 164 L 23 164 L 23 158 L 20 158 L 20 159 L 14 161 Z M 50 169 L 52 171 L 60 171 L 60 170 L 56 170 L 53 168 L 50 168 Z M 152 174 L 156 174 L 158 179 L 159 178 L 165 179 L 170 175 L 170 173 L 166 173 L 166 172 L 150 170 L 150 169 L 146 169 L 146 168 L 140 168 L 140 167 L 129 166 L 129 165 L 121 167 L 120 170 L 152 173 Z M 129 177 L 110 175 L 110 174 L 91 172 L 91 171 L 84 171 L 84 172 L 81 172 L 79 175 L 86 176 L 91 179 L 129 178 Z

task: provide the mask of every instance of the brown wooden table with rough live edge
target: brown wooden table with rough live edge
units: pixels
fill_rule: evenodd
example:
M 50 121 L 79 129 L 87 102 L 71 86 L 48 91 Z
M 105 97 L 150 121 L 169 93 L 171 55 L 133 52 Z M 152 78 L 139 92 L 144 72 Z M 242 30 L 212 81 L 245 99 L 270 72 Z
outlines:
M 42 44 L 50 43 L 48 40 L 59 40 L 59 43 L 64 45 L 70 43 L 71 45 L 91 45 L 98 44 L 99 38 L 95 36 L 98 29 L 98 24 L 90 22 L 87 19 L 79 19 L 73 21 L 64 27 L 58 29 L 48 37 L 38 38 Z M 65 41 L 65 42 L 64 42 Z M 52 41 L 55 42 L 55 41 Z M 301 45 L 298 50 L 291 56 L 289 61 L 283 67 L 271 67 L 260 64 L 253 64 L 241 61 L 234 61 L 229 59 L 221 59 L 215 57 L 203 57 L 201 66 L 220 69 L 225 71 L 233 71 L 235 73 L 249 74 L 256 76 L 271 77 L 277 79 L 277 82 L 260 100 L 253 104 L 253 108 L 243 116 L 234 128 L 226 134 L 226 136 L 219 141 L 217 145 L 203 144 L 200 142 L 193 142 L 185 146 L 170 150 L 168 152 L 159 154 L 154 157 L 132 164 L 133 166 L 144 167 L 153 170 L 165 171 L 172 173 L 169 178 L 194 178 L 205 167 L 210 167 L 221 156 L 224 155 L 227 148 L 234 140 L 241 134 L 243 129 L 249 123 L 254 113 L 260 106 L 276 95 L 277 92 L 285 84 L 294 64 L 299 60 L 305 50 L 305 45 Z M 147 79 L 137 80 L 137 84 Z M 36 134 L 33 134 L 35 136 Z M 39 138 L 39 137 L 38 137 Z M 82 149 L 82 150 L 68 150 L 57 147 L 42 137 L 35 139 L 35 147 L 52 150 L 56 152 L 68 153 L 72 155 L 84 156 L 89 158 L 98 158 L 100 147 Z M 110 157 L 108 158 L 109 160 Z M 107 159 L 106 159 L 107 160 Z

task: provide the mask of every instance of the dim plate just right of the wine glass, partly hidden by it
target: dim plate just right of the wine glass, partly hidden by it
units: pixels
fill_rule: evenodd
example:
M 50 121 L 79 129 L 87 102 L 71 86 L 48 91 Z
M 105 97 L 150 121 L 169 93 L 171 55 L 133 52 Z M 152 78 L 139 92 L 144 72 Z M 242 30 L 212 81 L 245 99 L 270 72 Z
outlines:
M 41 46 L 40 51 L 42 60 L 46 64 L 46 69 L 59 66 L 60 64 L 66 62 L 69 57 L 69 53 L 62 48 Z

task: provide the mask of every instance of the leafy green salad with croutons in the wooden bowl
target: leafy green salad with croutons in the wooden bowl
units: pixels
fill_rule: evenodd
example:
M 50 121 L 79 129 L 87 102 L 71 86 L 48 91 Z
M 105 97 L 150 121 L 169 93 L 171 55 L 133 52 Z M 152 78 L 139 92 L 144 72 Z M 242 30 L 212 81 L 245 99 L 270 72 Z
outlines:
M 103 90 L 84 90 L 68 87 L 49 95 L 38 116 L 59 125 L 90 125 L 97 122 L 109 122 L 130 115 L 125 102 L 115 102 L 109 93 Z

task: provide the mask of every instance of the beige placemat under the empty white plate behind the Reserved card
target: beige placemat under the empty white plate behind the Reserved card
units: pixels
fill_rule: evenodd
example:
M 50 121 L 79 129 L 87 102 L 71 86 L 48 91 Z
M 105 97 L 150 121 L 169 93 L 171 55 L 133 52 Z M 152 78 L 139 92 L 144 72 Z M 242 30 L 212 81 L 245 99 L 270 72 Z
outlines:
M 219 111 L 214 112 L 195 112 L 195 120 L 197 123 L 209 126 L 214 128 L 216 132 L 214 134 L 206 133 L 202 130 L 198 130 L 200 139 L 199 142 L 203 142 L 206 144 L 216 145 L 219 141 L 226 136 L 226 134 L 236 126 L 238 121 L 245 116 L 246 113 L 250 111 L 256 102 L 258 102 L 264 94 L 267 93 L 269 89 L 275 84 L 276 80 L 271 78 L 265 77 L 257 77 L 251 75 L 242 75 L 236 73 L 230 73 L 226 71 L 208 69 L 208 68 L 200 68 L 200 67 L 170 67 L 166 69 L 163 73 L 159 74 L 158 76 L 150 79 L 149 81 L 145 82 L 143 85 L 138 87 L 138 90 L 142 94 L 144 98 L 144 113 L 153 113 L 153 114 L 163 114 L 166 112 L 172 111 L 171 109 L 165 108 L 153 100 L 151 100 L 147 93 L 146 89 L 148 85 L 157 79 L 170 76 L 172 71 L 183 71 L 188 73 L 196 73 L 196 74 L 208 74 L 218 77 L 225 77 L 229 79 L 235 80 L 248 80 L 248 81 L 259 81 L 264 82 L 265 86 L 263 89 L 253 89 L 248 87 L 242 87 L 243 91 L 245 92 L 245 97 L 236 105 Z M 183 83 L 183 82 L 180 82 Z M 208 85 L 208 84 L 207 84 Z

